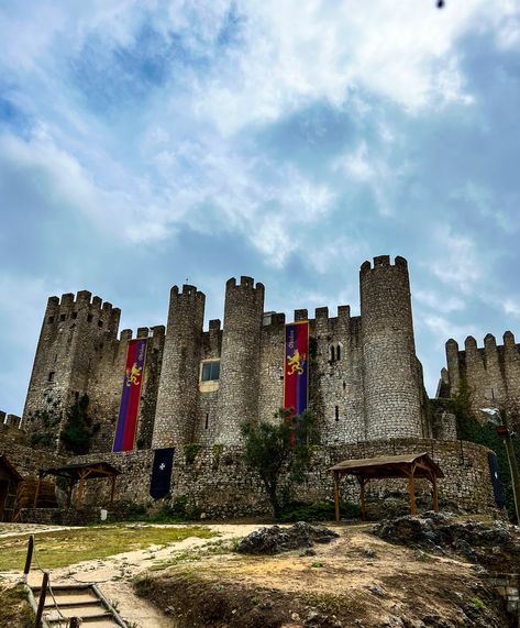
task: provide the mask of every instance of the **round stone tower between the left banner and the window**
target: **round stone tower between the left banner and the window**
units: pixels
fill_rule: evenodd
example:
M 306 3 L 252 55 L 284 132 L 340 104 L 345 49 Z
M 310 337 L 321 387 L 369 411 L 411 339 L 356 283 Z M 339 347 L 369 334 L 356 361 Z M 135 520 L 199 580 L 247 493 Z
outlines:
M 193 440 L 204 319 L 203 293 L 195 286 L 174 286 L 157 395 L 153 449 Z

